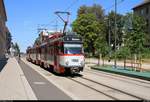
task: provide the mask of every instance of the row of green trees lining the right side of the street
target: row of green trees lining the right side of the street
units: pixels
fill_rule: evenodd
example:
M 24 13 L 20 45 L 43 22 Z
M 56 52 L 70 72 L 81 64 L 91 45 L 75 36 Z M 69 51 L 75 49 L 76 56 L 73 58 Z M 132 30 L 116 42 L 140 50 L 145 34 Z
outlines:
M 116 14 L 116 56 L 117 59 L 150 58 L 146 21 L 132 12 Z M 105 14 L 101 5 L 83 5 L 72 24 L 73 31 L 84 39 L 87 55 L 114 59 L 115 55 L 115 12 Z M 87 56 L 89 57 L 89 56 Z

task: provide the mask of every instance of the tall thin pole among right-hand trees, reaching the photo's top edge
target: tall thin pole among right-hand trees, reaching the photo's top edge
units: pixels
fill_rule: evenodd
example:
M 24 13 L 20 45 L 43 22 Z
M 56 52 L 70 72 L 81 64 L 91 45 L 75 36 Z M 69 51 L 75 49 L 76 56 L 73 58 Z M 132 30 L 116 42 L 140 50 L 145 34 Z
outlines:
M 117 0 L 115 0 L 115 61 L 114 61 L 114 66 L 115 68 L 117 68 L 117 62 L 116 62 L 116 36 L 117 36 L 117 17 L 116 17 L 116 14 L 117 14 Z

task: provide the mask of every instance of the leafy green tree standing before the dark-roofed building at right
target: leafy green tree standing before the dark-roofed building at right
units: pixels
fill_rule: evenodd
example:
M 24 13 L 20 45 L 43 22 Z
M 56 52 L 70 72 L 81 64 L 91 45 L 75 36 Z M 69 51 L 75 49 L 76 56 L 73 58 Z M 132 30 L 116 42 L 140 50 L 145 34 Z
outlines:
M 128 21 L 132 21 L 129 27 L 126 28 L 126 45 L 130 49 L 131 58 L 133 59 L 133 55 L 138 55 L 138 59 L 141 62 L 141 53 L 143 53 L 145 47 L 145 39 L 146 39 L 146 22 L 145 20 L 137 16 L 135 14 L 127 14 Z

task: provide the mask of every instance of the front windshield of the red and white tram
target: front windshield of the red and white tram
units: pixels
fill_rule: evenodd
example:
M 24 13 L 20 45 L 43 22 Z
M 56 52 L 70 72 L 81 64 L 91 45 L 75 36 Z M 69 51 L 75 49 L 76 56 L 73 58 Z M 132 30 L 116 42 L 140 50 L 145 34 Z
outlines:
M 64 46 L 65 54 L 82 54 L 82 46 L 81 45 L 65 45 Z

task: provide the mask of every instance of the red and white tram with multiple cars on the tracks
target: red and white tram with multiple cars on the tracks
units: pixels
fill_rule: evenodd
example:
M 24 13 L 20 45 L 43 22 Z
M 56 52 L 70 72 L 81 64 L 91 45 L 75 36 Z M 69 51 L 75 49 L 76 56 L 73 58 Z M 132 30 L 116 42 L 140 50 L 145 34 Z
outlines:
M 76 34 L 54 33 L 27 49 L 27 60 L 57 73 L 79 73 L 85 65 L 82 38 Z

